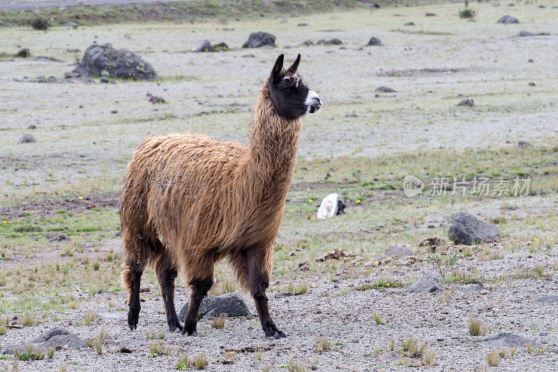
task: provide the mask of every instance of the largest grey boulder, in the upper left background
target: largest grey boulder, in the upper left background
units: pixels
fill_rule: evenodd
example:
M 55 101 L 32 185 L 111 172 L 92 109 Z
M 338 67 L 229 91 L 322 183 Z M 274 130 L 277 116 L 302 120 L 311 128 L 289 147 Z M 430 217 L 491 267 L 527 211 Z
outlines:
M 121 79 L 153 80 L 157 73 L 148 62 L 126 49 L 114 49 L 112 45 L 90 45 L 84 53 L 80 65 L 73 73 L 80 76 L 119 77 Z

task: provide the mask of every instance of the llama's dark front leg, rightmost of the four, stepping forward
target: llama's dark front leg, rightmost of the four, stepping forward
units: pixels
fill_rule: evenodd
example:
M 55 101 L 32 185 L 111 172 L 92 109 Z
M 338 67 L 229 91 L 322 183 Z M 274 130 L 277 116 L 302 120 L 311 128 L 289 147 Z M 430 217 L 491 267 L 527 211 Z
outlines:
M 262 329 L 264 329 L 266 337 L 287 337 L 285 332 L 278 329 L 271 319 L 271 315 L 269 315 L 269 300 L 266 296 L 266 289 L 269 287 L 271 261 L 266 258 L 267 253 L 267 251 L 261 249 L 253 249 L 246 252 L 247 265 L 245 267 L 248 269 L 246 278 L 254 298 L 259 322 L 262 325 Z

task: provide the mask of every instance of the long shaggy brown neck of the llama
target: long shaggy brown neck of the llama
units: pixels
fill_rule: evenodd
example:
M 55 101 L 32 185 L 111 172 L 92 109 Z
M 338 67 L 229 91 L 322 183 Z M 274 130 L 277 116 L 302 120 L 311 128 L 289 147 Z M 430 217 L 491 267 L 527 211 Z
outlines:
M 246 168 L 243 167 L 248 177 L 247 186 L 253 192 L 263 193 L 263 200 L 271 203 L 285 200 L 296 163 L 301 126 L 301 118 L 287 120 L 278 117 L 264 85 L 255 104 L 244 159 Z

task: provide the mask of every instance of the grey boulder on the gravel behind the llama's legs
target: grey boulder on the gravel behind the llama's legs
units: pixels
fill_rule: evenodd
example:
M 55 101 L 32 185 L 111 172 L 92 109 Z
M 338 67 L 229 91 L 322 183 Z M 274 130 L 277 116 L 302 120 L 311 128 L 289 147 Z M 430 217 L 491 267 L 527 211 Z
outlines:
M 188 311 L 188 302 L 180 311 L 179 319 L 183 322 L 186 312 Z M 207 296 L 202 300 L 199 306 L 197 318 L 209 320 L 219 314 L 227 314 L 228 316 L 246 316 L 250 315 L 248 307 L 239 292 L 230 292 L 220 296 Z

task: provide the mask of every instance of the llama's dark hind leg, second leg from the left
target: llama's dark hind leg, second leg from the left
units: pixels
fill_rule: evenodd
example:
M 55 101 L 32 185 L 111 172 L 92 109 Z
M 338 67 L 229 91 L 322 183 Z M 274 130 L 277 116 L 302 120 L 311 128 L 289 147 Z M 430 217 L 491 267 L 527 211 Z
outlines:
M 165 304 L 165 315 L 167 315 L 169 332 L 174 332 L 176 329 L 182 331 L 182 326 L 178 315 L 176 315 L 176 308 L 174 307 L 174 279 L 176 279 L 178 272 L 168 255 L 160 255 L 156 265 L 156 272 L 161 288 L 161 296 L 163 297 L 163 304 Z

